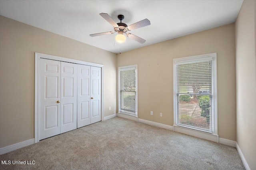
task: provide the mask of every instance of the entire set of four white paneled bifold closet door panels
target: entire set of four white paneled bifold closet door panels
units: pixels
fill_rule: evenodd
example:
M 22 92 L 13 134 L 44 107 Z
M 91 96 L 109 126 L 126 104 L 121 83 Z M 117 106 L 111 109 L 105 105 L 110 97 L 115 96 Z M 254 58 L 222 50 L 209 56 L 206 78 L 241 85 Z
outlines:
M 39 140 L 101 121 L 101 68 L 40 59 Z

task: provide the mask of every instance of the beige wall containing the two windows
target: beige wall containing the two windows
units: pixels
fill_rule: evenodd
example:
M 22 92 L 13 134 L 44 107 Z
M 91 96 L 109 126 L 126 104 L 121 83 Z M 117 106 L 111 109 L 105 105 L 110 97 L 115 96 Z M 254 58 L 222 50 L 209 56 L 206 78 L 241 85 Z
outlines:
M 118 66 L 138 64 L 138 117 L 173 125 L 173 59 L 217 53 L 218 135 L 236 141 L 234 35 L 232 23 L 118 54 Z

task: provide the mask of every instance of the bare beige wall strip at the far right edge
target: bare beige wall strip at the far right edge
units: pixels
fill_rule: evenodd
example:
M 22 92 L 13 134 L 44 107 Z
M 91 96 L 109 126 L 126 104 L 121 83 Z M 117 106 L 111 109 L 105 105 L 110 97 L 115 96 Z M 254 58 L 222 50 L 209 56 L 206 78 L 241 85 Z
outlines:
M 256 2 L 244 0 L 236 19 L 237 143 L 256 170 Z

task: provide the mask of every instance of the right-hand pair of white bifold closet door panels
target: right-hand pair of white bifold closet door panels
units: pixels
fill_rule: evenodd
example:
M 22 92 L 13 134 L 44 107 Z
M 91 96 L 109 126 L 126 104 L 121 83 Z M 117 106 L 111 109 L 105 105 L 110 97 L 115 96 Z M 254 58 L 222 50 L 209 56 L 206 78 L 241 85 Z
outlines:
M 78 64 L 77 127 L 101 121 L 101 68 Z

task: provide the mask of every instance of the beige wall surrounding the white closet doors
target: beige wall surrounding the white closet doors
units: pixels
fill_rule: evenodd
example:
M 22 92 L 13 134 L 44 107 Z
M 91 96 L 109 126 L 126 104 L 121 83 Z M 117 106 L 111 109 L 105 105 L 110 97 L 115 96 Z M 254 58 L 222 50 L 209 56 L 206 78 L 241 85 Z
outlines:
M 3 16 L 0 49 L 0 148 L 34 138 L 35 52 L 104 64 L 105 116 L 116 109 L 116 54 Z

